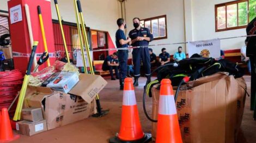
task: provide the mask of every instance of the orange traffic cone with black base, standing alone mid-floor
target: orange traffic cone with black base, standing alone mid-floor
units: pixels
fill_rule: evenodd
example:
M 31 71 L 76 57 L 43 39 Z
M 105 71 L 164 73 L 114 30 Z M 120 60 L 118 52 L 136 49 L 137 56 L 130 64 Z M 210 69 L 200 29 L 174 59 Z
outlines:
M 143 133 L 131 78 L 124 80 L 123 107 L 119 134 L 109 139 L 110 143 L 149 142 L 151 134 Z

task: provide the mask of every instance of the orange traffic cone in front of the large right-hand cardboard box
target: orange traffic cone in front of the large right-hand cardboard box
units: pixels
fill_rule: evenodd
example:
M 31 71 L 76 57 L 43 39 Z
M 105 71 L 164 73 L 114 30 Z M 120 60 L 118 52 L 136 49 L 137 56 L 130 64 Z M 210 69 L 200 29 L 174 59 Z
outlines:
M 156 143 L 182 142 L 173 87 L 170 83 L 169 79 L 161 81 Z

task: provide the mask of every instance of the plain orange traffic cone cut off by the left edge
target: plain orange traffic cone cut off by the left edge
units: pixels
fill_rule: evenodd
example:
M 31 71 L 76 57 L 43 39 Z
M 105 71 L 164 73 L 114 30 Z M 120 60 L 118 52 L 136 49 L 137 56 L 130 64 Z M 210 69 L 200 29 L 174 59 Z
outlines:
M 18 139 L 19 135 L 14 135 L 11 130 L 11 123 L 7 108 L 2 109 L 1 125 L 0 125 L 0 142 L 10 142 Z

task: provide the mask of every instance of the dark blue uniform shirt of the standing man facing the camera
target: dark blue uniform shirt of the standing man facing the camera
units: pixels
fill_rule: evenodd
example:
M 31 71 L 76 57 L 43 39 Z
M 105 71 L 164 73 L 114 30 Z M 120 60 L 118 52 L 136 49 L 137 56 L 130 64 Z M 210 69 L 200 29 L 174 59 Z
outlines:
M 129 32 L 129 37 L 131 40 L 134 40 L 137 37 L 149 37 L 150 42 L 153 41 L 153 35 L 150 33 L 148 28 L 141 27 L 141 29 L 133 29 Z M 135 43 L 132 44 L 132 46 L 148 46 L 149 41 L 136 41 Z

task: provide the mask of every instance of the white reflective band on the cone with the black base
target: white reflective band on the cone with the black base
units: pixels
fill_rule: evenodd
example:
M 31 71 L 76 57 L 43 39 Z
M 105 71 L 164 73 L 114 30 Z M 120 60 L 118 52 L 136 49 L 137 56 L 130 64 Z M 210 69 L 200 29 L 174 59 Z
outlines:
M 123 105 L 132 106 L 136 105 L 136 98 L 134 90 L 124 90 Z

